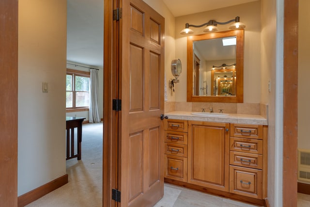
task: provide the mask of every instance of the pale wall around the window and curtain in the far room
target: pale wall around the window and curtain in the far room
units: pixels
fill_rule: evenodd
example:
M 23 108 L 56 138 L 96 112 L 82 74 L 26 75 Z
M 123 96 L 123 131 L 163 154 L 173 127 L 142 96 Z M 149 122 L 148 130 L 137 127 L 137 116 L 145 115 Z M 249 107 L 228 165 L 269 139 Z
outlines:
M 80 64 L 80 63 L 74 63 L 74 62 L 70 62 L 67 61 L 67 68 L 69 69 L 74 69 L 74 70 L 81 70 L 81 71 L 85 71 L 85 72 L 90 72 L 89 68 L 85 68 L 85 67 L 92 67 L 92 68 L 97 68 L 99 69 L 98 71 L 98 78 L 99 78 L 99 115 L 100 118 L 103 118 L 103 68 L 98 68 L 92 65 L 86 65 L 86 64 Z M 77 64 L 76 65 L 72 65 L 72 64 Z M 80 66 L 84 66 L 84 67 L 80 67 Z M 66 112 L 66 116 L 75 116 L 75 117 L 85 117 L 86 119 L 84 121 L 88 121 L 89 120 L 89 111 L 75 111 L 75 112 Z

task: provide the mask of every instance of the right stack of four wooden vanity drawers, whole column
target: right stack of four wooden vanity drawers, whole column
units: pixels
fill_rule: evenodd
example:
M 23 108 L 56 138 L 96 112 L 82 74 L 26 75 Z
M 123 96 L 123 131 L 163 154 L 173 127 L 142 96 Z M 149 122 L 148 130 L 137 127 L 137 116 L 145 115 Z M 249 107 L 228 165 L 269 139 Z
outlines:
M 267 126 L 231 124 L 230 192 L 267 196 Z

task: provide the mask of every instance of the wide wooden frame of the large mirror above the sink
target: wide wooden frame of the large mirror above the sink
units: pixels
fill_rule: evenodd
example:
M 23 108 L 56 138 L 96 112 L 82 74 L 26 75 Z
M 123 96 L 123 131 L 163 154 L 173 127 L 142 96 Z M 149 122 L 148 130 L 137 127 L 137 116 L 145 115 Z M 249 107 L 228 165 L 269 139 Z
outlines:
M 236 96 L 193 96 L 193 42 L 236 36 Z M 187 102 L 243 103 L 244 30 L 187 36 Z

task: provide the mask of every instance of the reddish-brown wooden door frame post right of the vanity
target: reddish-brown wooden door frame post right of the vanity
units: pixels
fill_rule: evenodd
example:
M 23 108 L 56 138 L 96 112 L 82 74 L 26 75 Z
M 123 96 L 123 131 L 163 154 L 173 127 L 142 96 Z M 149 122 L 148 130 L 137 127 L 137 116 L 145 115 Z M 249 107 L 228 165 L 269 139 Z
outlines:
M 297 205 L 298 0 L 284 0 L 282 205 Z

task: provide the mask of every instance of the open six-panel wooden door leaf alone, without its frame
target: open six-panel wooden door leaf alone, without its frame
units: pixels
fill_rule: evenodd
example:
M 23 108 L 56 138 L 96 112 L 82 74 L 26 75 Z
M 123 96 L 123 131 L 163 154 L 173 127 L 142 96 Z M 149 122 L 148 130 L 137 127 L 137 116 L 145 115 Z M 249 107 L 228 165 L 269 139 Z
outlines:
M 120 0 L 120 7 L 118 205 L 152 207 L 164 193 L 164 18 L 142 0 Z

